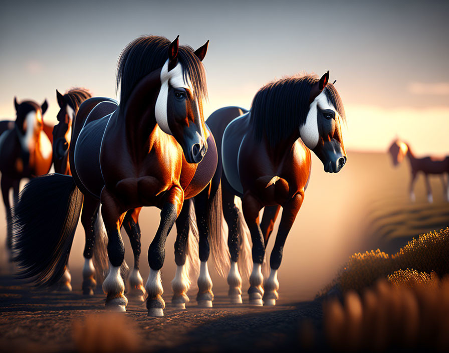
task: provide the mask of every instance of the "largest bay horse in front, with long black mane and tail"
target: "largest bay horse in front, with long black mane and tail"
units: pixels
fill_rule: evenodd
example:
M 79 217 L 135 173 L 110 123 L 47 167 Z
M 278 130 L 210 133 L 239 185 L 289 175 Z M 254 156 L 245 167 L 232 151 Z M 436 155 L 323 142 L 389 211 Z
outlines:
M 207 91 L 201 60 L 207 43 L 193 52 L 178 46 L 178 38 L 170 43 L 148 36 L 124 49 L 117 74 L 120 104 L 108 98 L 88 99 L 72 124 L 73 178 L 43 176 L 21 194 L 14 229 L 16 261 L 23 276 L 38 283 L 61 277 L 82 200 L 90 199 L 94 205 L 99 199 L 110 261 L 103 282 L 106 305 L 125 310 L 119 230 L 128 210 L 156 206 L 162 210 L 161 221 L 148 251 L 145 289 L 148 314 L 163 315 L 160 269 L 166 237 L 184 199 L 203 190 L 216 167 L 216 150 L 210 148 L 215 145 L 202 116 Z M 215 153 L 215 159 L 206 157 L 209 153 Z M 96 208 L 90 214 L 95 212 Z M 184 256 L 191 255 L 185 254 L 186 241 L 181 247 Z

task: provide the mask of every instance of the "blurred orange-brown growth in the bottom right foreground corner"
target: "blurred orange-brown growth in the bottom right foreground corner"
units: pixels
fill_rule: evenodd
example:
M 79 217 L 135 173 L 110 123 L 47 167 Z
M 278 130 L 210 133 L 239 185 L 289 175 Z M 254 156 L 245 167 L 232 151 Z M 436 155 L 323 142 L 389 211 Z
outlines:
M 425 279 L 412 285 L 379 280 L 362 294 L 348 291 L 343 303 L 326 301 L 327 344 L 337 351 L 417 347 L 449 351 L 449 279 Z

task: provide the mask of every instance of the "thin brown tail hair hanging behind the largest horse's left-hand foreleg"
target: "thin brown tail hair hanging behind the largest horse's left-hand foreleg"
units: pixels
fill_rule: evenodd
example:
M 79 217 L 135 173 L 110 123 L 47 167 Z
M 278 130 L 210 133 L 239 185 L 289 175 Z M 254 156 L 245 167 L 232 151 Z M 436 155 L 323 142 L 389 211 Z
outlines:
M 92 252 L 92 261 L 94 263 L 97 283 L 103 283 L 104 279 L 108 275 L 109 270 L 109 257 L 108 257 L 108 234 L 104 226 L 103 217 L 101 216 L 101 205 L 98 208 L 94 223 L 95 243 Z M 126 279 L 129 274 L 129 266 L 125 260 L 123 260 L 120 266 L 120 275 L 123 278 L 123 282 L 126 283 Z

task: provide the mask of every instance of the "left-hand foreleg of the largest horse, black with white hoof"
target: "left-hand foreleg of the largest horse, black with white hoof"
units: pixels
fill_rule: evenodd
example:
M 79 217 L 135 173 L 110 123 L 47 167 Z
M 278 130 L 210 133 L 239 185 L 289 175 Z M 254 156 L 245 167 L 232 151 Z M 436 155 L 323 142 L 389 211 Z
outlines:
M 101 214 L 108 234 L 109 272 L 103 282 L 106 307 L 116 311 L 126 311 L 128 299 L 124 295 L 125 283 L 120 275 L 120 266 L 125 257 L 125 246 L 120 235 L 120 227 L 125 214 L 110 192 L 103 188 L 101 192 Z

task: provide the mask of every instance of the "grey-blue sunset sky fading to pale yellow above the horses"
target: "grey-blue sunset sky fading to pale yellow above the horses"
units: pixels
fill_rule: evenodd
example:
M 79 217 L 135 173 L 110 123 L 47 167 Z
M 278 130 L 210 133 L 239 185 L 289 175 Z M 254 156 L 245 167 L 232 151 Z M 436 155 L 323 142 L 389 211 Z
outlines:
M 50 104 L 56 89 L 116 97 L 121 50 L 161 35 L 203 61 L 204 113 L 244 108 L 264 84 L 301 71 L 330 70 L 346 110 L 347 149 L 385 151 L 395 137 L 417 154 L 449 151 L 449 2 L 127 1 L 24 2 L 0 13 L 0 119 L 13 99 Z

